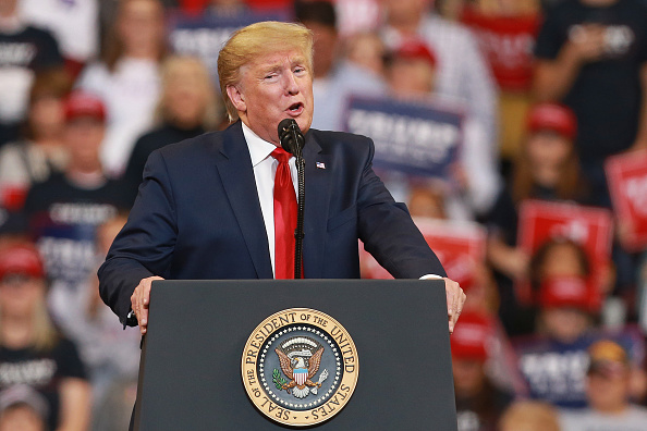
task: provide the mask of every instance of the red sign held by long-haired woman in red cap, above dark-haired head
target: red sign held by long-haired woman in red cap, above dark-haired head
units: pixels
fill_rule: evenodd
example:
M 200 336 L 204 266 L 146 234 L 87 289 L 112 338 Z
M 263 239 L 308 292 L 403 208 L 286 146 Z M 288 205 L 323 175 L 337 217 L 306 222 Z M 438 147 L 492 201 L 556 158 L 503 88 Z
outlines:
M 591 268 L 591 281 L 601 287 L 611 260 L 613 219 L 611 211 L 575 204 L 525 200 L 520 208 L 518 246 L 532 256 L 551 238 L 579 244 Z M 517 283 L 520 299 L 530 300 L 527 281 Z

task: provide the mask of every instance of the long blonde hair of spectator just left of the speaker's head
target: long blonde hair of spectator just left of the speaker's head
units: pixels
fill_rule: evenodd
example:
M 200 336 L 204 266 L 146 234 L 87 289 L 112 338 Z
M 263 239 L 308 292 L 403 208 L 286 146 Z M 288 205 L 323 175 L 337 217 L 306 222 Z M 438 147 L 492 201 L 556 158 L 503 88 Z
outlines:
M 206 131 L 216 130 L 220 123 L 221 106 L 216 96 L 216 89 L 209 76 L 209 72 L 203 61 L 192 56 L 171 56 L 164 60 L 161 66 L 161 96 L 155 110 L 155 121 L 161 124 L 168 116 L 167 97 L 173 77 L 182 73 L 193 73 L 197 77 L 197 85 L 205 98 L 205 110 L 200 125 Z

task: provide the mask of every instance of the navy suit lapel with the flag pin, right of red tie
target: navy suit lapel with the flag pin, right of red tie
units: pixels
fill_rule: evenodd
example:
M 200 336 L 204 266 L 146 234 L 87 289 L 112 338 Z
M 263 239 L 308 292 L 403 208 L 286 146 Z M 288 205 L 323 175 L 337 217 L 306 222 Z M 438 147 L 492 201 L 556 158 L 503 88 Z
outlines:
M 305 169 L 305 217 L 303 239 L 304 275 L 320 279 L 324 275 L 324 253 L 330 201 L 330 156 L 321 151 L 314 134 L 306 134 L 303 148 Z

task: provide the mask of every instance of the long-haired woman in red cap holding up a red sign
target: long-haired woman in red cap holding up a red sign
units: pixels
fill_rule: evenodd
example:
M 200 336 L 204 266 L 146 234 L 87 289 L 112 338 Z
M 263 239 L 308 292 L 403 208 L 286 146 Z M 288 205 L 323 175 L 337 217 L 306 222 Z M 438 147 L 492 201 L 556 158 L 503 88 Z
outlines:
M 512 290 L 514 280 L 528 275 L 529 257 L 516 247 L 520 204 L 525 199 L 586 202 L 573 148 L 573 112 L 557 103 L 536 104 L 528 114 L 526 128 L 528 136 L 515 162 L 512 182 L 500 192 L 487 217 L 488 259 L 499 284 L 501 319 L 511 335 L 526 333 L 532 327 L 526 319 L 529 315 L 520 309 Z

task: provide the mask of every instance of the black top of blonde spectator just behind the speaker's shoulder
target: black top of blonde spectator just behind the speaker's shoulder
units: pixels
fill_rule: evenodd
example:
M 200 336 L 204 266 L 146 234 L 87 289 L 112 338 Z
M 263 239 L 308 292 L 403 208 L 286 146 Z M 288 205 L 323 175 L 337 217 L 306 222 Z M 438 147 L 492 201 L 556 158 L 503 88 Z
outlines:
M 203 127 L 180 128 L 167 123 L 159 128 L 142 135 L 133 147 L 133 152 L 122 177 L 123 185 L 131 196 L 131 205 L 137 197 L 137 189 L 142 183 L 142 174 L 144 173 L 144 167 L 146 165 L 148 156 L 156 149 L 202 135 L 203 133 L 205 133 Z

